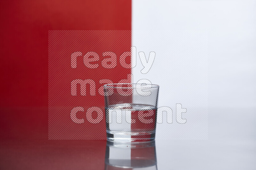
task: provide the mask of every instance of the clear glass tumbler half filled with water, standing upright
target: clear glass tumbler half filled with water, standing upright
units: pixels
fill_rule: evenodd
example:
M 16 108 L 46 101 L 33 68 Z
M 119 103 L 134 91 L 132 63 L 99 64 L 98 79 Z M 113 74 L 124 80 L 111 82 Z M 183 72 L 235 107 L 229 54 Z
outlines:
M 159 86 L 124 83 L 103 88 L 107 139 L 124 143 L 154 140 Z

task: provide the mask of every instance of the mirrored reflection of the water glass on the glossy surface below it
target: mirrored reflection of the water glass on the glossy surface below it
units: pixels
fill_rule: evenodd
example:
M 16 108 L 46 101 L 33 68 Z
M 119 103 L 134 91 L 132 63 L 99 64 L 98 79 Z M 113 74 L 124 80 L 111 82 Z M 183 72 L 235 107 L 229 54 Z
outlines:
M 105 170 L 121 169 L 156 170 L 155 140 L 129 144 L 107 141 Z

